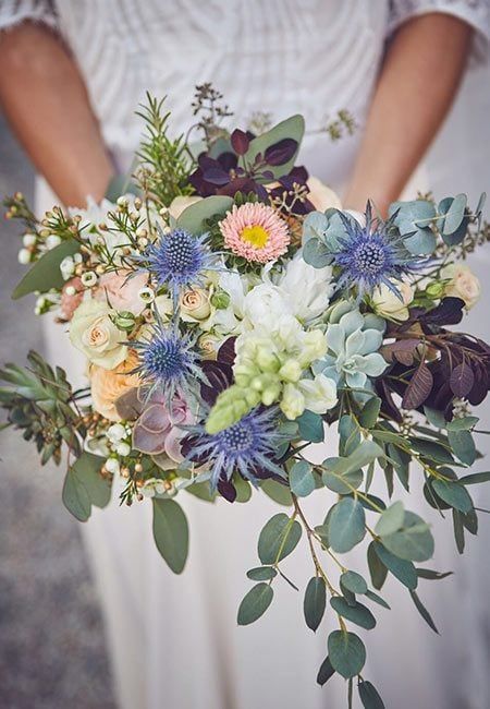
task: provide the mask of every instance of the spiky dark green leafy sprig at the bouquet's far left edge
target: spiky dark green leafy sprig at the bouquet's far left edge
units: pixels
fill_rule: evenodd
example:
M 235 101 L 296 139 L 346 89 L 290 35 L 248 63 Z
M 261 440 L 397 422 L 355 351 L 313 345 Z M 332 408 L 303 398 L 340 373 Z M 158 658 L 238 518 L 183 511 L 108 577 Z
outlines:
M 51 457 L 61 460 L 63 441 L 75 456 L 82 453 L 83 419 L 64 370 L 51 366 L 37 352 L 27 356 L 29 366 L 5 364 L 0 370 L 0 407 L 5 409 L 8 425 L 24 431 L 26 441 L 34 438 L 45 465 Z

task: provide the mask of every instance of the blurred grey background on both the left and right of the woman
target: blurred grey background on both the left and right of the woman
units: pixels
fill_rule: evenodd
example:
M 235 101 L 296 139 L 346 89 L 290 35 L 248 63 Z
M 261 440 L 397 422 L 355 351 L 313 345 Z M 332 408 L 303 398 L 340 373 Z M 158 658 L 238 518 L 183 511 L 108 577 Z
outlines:
M 479 192 L 490 192 L 490 69 L 470 73 L 463 92 L 470 92 L 471 101 L 460 100 L 454 107 L 430 152 L 424 178 L 436 196 L 464 190 L 474 205 Z M 0 195 L 20 190 L 33 203 L 33 168 L 0 115 Z M 34 298 L 10 300 L 24 272 L 17 263 L 19 236 L 19 225 L 0 220 L 0 362 L 22 363 L 28 348 L 44 349 Z M 487 339 L 489 251 L 479 252 L 473 262 L 487 300 L 467 325 Z M 481 417 L 485 428 L 490 428 L 488 406 Z M 1 434 L 0 449 L 0 709 L 58 709 L 69 702 L 75 709 L 115 709 L 105 630 L 79 526 L 60 502 L 63 473 L 50 466 L 40 469 L 33 447 L 14 431 Z M 488 508 L 490 495 L 483 494 L 478 502 Z M 490 519 L 481 521 L 480 537 L 469 540 L 471 563 L 470 563 L 471 579 L 464 598 L 466 609 L 475 609 L 476 621 L 478 608 L 488 605 L 490 593 Z M 451 567 L 461 574 L 456 556 L 454 549 Z M 452 582 L 443 582 L 441 598 L 451 592 Z M 456 606 L 454 613 L 458 613 Z M 482 657 L 471 659 L 477 704 L 462 697 L 461 709 L 480 709 L 483 695 L 490 697 L 490 627 L 481 623 L 478 627 L 487 638 L 487 649 Z M 437 651 L 436 644 L 444 639 L 427 633 L 427 651 Z

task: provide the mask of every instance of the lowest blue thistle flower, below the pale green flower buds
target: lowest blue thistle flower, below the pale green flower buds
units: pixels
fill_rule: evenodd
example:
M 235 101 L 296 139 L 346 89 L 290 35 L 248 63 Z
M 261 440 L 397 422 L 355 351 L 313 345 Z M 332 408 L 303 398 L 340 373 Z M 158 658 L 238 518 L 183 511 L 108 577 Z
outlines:
M 236 423 L 209 434 L 204 424 L 188 426 L 189 436 L 183 447 L 188 460 L 212 466 L 211 490 L 221 481 L 230 481 L 238 472 L 254 485 L 264 473 L 285 478 L 284 470 L 274 462 L 278 445 L 285 436 L 277 429 L 278 409 L 254 409 Z

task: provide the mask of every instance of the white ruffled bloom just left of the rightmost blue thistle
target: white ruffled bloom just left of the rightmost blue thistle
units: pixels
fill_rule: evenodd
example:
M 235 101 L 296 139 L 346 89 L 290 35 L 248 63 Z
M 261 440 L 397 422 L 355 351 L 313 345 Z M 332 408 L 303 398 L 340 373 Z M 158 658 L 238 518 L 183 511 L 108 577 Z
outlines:
M 287 263 L 278 286 L 287 293 L 293 314 L 302 322 L 310 322 L 329 305 L 334 289 L 332 267 L 315 268 L 297 253 Z

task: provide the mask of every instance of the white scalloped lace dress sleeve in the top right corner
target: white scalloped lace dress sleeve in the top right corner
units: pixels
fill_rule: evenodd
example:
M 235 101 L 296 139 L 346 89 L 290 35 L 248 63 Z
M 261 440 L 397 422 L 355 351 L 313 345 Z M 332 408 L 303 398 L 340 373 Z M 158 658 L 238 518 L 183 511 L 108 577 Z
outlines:
M 460 17 L 475 29 L 471 60 L 483 63 L 489 57 L 490 0 L 390 0 L 389 35 L 404 22 L 430 12 Z

